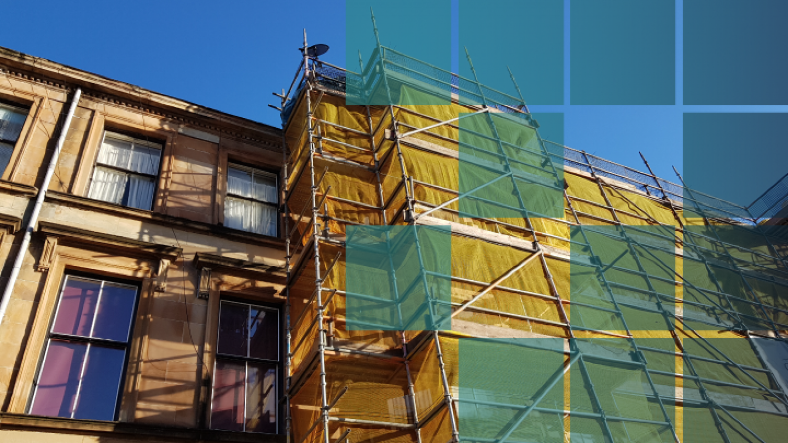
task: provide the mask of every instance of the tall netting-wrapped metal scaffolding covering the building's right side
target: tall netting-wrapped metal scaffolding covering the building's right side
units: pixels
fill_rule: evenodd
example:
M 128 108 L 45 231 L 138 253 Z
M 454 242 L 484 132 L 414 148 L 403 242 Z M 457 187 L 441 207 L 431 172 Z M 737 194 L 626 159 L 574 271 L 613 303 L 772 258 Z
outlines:
M 395 84 L 396 96 L 452 102 L 396 104 Z M 385 106 L 346 104 L 384 93 Z M 281 97 L 288 441 L 782 440 L 788 397 L 755 341 L 785 341 L 788 266 L 782 240 L 747 208 L 658 178 L 645 158 L 648 173 L 542 140 L 522 95 L 380 43 L 353 73 L 311 57 L 305 33 Z M 511 181 L 515 203 L 460 190 L 463 116 L 492 128 L 473 136 L 498 149 L 494 181 Z M 527 161 L 498 117 L 535 134 L 528 158 L 547 173 L 532 183 L 561 183 L 563 217 L 527 207 L 519 189 L 531 176 L 514 171 Z M 467 214 L 463 198 L 515 216 Z M 440 276 L 451 299 L 425 292 L 433 324 L 448 303 L 452 330 L 364 329 L 348 317 L 348 297 L 359 296 L 345 286 L 348 228 L 370 225 L 451 226 L 452 271 Z M 504 337 L 561 341 L 517 344 L 559 354 L 561 367 L 525 403 L 463 395 L 460 342 Z M 563 402 L 550 394 L 562 385 Z M 465 430 L 466 407 L 511 417 L 492 432 Z M 474 420 L 484 421 L 465 423 Z

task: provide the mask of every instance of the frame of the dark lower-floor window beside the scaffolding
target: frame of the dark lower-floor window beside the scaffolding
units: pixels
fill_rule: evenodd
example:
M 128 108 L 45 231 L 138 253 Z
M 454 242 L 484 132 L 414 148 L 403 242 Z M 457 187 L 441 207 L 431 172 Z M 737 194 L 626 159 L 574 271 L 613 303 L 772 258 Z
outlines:
M 250 356 L 248 356 L 248 354 L 249 354 L 249 346 L 250 346 L 250 341 L 251 341 L 250 334 L 248 333 L 248 324 L 247 324 L 247 356 L 245 356 L 245 357 L 243 357 L 243 356 L 235 356 L 235 355 L 232 355 L 232 354 L 222 354 L 222 353 L 219 352 L 219 340 L 220 340 L 219 336 L 220 336 L 220 333 L 221 333 L 221 307 L 222 307 L 222 303 L 231 303 L 231 304 L 236 304 L 236 305 L 242 305 L 242 306 L 246 306 L 247 308 L 250 308 L 250 309 L 251 309 L 251 307 L 256 307 L 258 309 L 262 309 L 262 310 L 266 310 L 266 311 L 273 311 L 273 312 L 275 312 L 277 314 L 277 337 L 276 337 L 277 359 L 276 360 L 261 359 L 261 358 L 257 358 L 257 357 L 250 357 Z M 282 365 L 283 365 L 283 363 L 282 363 L 282 338 L 283 337 L 282 337 L 282 330 L 281 330 L 281 326 L 282 326 L 281 315 L 282 315 L 282 312 L 281 312 L 281 308 L 280 307 L 274 307 L 274 306 L 269 305 L 268 303 L 260 303 L 260 302 L 250 301 L 250 300 L 238 300 L 238 299 L 235 299 L 235 298 L 227 298 L 227 297 L 223 297 L 223 298 L 221 298 L 221 300 L 219 300 L 218 310 L 217 310 L 217 321 L 216 321 L 216 342 L 215 342 L 216 344 L 215 344 L 215 351 L 214 351 L 214 362 L 213 362 L 213 367 L 210 368 L 210 379 L 211 379 L 210 398 L 208 399 L 208 405 L 207 405 L 208 407 L 206 408 L 207 409 L 207 415 L 208 415 L 207 416 L 207 425 L 208 425 L 207 427 L 208 427 L 208 429 L 220 430 L 219 428 L 214 428 L 213 427 L 213 419 L 214 419 L 214 394 L 216 393 L 216 367 L 217 367 L 217 363 L 221 360 L 221 361 L 229 361 L 229 362 L 232 362 L 232 363 L 243 363 L 243 366 L 245 368 L 245 373 L 244 373 L 244 377 L 243 377 L 243 382 L 244 382 L 244 385 L 243 385 L 243 430 L 231 431 L 231 432 L 243 432 L 244 434 L 271 435 L 271 434 L 268 434 L 268 433 L 265 433 L 265 432 L 247 431 L 246 430 L 246 426 L 247 426 L 246 422 L 247 422 L 247 419 L 248 419 L 248 417 L 247 417 L 247 396 L 248 396 L 247 381 L 249 379 L 249 363 L 270 364 L 270 365 L 273 365 L 276 368 L 276 371 L 275 371 L 276 373 L 274 374 L 274 383 L 276 383 L 276 385 L 274 386 L 274 389 L 273 389 L 273 395 L 274 395 L 273 404 L 274 404 L 274 411 L 276 412 L 277 416 L 276 416 L 276 419 L 275 419 L 276 426 L 275 426 L 275 430 L 274 430 L 273 434 L 277 434 L 277 435 L 280 434 L 280 430 L 281 430 L 280 429 L 281 428 L 281 405 L 279 403 L 280 403 L 281 397 L 282 397 L 281 389 L 282 389 L 282 374 L 283 374 L 283 372 L 282 372 Z

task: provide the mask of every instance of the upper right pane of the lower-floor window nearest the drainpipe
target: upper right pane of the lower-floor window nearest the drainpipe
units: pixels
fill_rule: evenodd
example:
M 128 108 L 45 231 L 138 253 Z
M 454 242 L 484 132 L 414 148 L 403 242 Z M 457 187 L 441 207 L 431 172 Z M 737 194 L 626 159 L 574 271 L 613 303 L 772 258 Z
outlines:
M 104 283 L 92 337 L 128 341 L 136 288 Z

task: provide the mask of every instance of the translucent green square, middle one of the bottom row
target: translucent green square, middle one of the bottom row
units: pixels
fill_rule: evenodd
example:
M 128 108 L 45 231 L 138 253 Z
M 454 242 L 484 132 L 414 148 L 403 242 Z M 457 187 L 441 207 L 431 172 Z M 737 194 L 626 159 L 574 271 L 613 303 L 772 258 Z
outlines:
M 626 338 L 572 340 L 571 441 L 675 441 L 675 377 L 649 375 L 642 364 L 675 372 L 671 341 L 642 341 L 669 352 L 641 353 Z

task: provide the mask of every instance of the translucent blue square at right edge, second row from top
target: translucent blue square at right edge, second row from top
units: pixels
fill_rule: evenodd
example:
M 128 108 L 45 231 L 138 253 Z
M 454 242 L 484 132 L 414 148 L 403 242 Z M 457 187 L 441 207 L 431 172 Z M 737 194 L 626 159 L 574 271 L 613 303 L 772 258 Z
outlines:
M 747 208 L 786 174 L 785 128 L 788 113 L 685 113 L 684 216 L 759 217 Z

